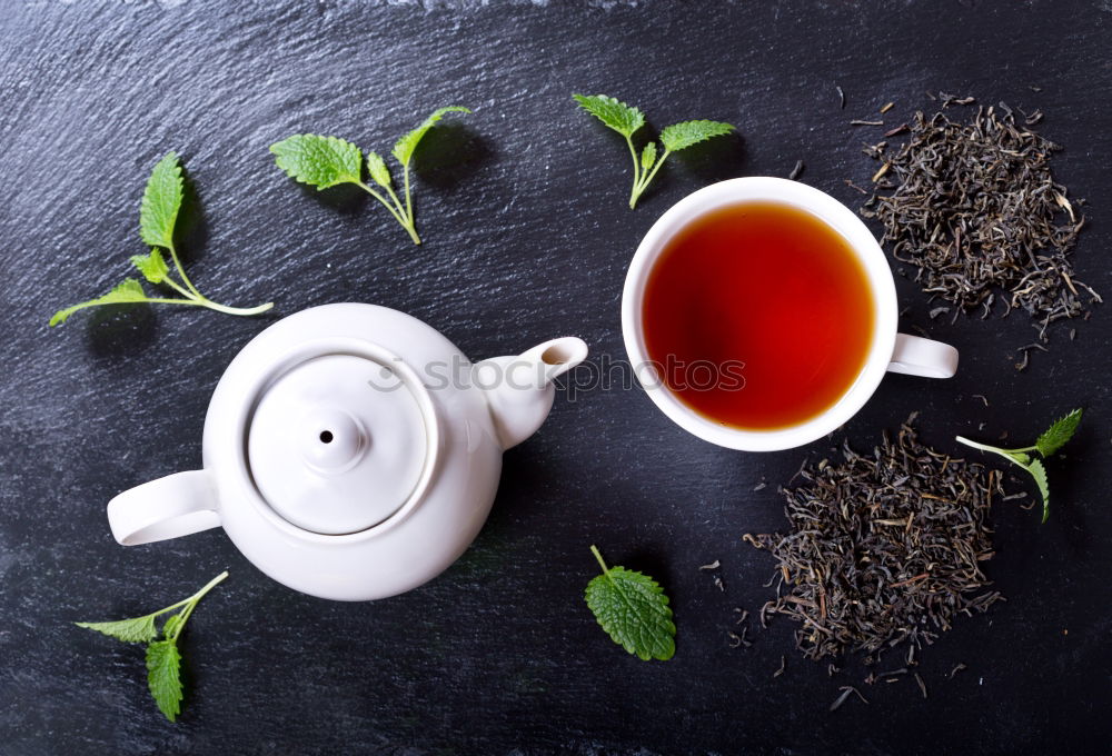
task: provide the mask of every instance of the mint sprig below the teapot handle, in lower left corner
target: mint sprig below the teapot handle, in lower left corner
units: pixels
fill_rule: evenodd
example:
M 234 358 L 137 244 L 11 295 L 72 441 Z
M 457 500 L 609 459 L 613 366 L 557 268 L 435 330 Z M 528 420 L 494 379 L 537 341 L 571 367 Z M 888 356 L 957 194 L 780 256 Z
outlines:
M 181 713 L 181 653 L 178 650 L 178 636 L 189 621 L 189 615 L 193 613 L 197 603 L 205 597 L 205 594 L 228 577 L 224 571 L 208 581 L 208 584 L 189 598 L 177 604 L 171 604 L 165 609 L 159 609 L 142 617 L 131 619 L 117 619 L 107 623 L 73 623 L 78 627 L 87 627 L 105 635 L 122 640 L 123 643 L 147 644 L 147 687 L 155 698 L 158 709 L 162 715 L 173 722 Z M 159 630 L 157 619 L 165 614 L 172 611 L 162 629 Z M 161 634 L 162 638 L 158 639 Z

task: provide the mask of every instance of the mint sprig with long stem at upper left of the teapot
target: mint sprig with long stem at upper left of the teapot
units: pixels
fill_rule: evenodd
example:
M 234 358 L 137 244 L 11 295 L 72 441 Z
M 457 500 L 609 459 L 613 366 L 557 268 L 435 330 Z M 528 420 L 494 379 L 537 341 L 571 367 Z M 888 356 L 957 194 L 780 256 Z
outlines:
M 178 257 L 178 248 L 173 243 L 173 231 L 178 221 L 178 212 L 181 210 L 183 198 L 181 180 L 181 162 L 176 152 L 168 152 L 166 157 L 155 165 L 155 169 L 147 180 L 147 187 L 142 192 L 142 202 L 139 206 L 139 235 L 143 242 L 150 247 L 148 255 L 135 255 L 131 257 L 131 265 L 142 273 L 142 277 L 155 285 L 168 286 L 181 298 L 148 297 L 142 285 L 133 278 L 126 278 L 121 284 L 117 284 L 108 294 L 58 310 L 50 318 L 50 325 L 57 326 L 66 322 L 66 319 L 78 310 L 87 307 L 100 307 L 102 305 L 123 305 L 129 302 L 150 302 L 153 305 L 190 305 L 195 307 L 207 307 L 210 310 L 226 312 L 228 315 L 258 315 L 266 312 L 274 302 L 267 302 L 258 307 L 228 307 L 219 305 L 197 290 L 186 270 L 181 266 Z M 178 279 L 175 280 L 166 259 L 160 249 L 165 249 L 170 255 L 173 262 L 173 272 Z

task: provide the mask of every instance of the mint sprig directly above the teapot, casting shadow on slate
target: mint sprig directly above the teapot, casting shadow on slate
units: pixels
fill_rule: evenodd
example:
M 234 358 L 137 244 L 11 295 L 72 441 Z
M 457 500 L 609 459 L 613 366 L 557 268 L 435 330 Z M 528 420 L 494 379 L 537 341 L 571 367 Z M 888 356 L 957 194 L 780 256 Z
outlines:
M 298 133 L 270 146 L 275 162 L 286 173 L 300 183 L 316 187 L 318 191 L 340 183 L 354 183 L 383 203 L 401 228 L 409 232 L 415 245 L 420 243 L 414 220 L 413 196 L 409 191 L 409 162 L 417 146 L 428 130 L 450 112 L 469 113 L 461 106 L 437 109 L 431 116 L 409 133 L 401 137 L 390 153 L 401 166 L 401 186 L 405 203 L 394 190 L 390 169 L 380 155 L 367 152 L 367 173 L 383 191 L 378 191 L 363 180 L 363 150 L 349 141 L 337 137 L 321 137 L 315 133 Z M 385 193 L 384 193 L 385 192 Z

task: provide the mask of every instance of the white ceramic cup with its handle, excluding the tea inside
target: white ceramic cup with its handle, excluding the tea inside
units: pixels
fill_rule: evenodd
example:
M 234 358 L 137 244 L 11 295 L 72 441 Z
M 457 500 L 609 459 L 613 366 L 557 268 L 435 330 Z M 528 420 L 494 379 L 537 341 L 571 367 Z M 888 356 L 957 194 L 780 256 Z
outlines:
M 649 273 L 668 241 L 701 216 L 743 202 L 780 202 L 810 212 L 837 231 L 857 256 L 875 306 L 873 340 L 865 365 L 842 397 L 816 417 L 784 428 L 746 430 L 718 422 L 684 404 L 661 380 L 645 349 L 643 300 Z M 708 271 L 707 275 L 713 275 Z M 836 199 L 797 181 L 770 177 L 731 179 L 699 189 L 661 216 L 629 263 L 622 294 L 622 331 L 626 351 L 649 398 L 665 415 L 699 438 L 745 451 L 775 451 L 808 444 L 843 425 L 864 406 L 884 372 L 950 378 L 957 350 L 950 345 L 896 332 L 896 289 L 881 246 L 855 212 Z M 738 356 L 744 360 L 744 356 Z M 742 389 L 744 390 L 744 389 Z

